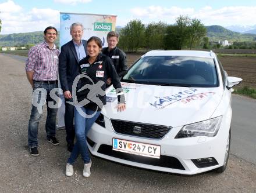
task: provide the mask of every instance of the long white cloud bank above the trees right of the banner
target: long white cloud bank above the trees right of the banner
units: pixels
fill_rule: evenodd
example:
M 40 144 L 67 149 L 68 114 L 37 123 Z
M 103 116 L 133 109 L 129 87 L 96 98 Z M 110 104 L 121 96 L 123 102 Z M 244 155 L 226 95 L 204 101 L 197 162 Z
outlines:
M 130 10 L 133 19 L 140 19 L 144 23 L 150 21 L 164 21 L 168 24 L 175 23 L 179 15 L 188 15 L 197 18 L 205 25 L 254 25 L 256 21 L 256 6 L 227 6 L 213 9 L 211 6 L 195 10 L 194 8 L 166 8 L 163 6 L 148 6 L 147 8 L 133 8 Z

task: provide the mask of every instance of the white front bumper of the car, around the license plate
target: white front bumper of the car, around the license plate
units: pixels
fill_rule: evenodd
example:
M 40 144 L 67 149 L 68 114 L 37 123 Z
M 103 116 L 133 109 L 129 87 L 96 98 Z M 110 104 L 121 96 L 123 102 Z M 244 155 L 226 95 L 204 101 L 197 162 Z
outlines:
M 215 137 L 199 136 L 175 139 L 176 134 L 182 129 L 182 127 L 178 127 L 172 128 L 162 139 L 152 140 L 115 133 L 112 129 L 111 121 L 105 117 L 106 128 L 94 123 L 88 133 L 87 143 L 90 142 L 88 143 L 88 148 L 91 154 L 110 161 L 162 172 L 191 175 L 207 172 L 223 165 L 230 121 L 230 118 L 223 117 L 221 128 Z M 160 145 L 160 159 L 113 151 L 113 138 Z M 214 166 L 200 168 L 191 161 L 192 159 L 209 157 L 215 158 L 218 163 Z

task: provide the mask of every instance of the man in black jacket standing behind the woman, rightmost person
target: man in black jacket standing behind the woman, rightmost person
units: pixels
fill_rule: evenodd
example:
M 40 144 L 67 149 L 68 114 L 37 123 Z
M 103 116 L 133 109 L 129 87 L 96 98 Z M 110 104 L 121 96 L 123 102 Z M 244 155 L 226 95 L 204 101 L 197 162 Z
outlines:
M 115 31 L 109 31 L 106 36 L 108 47 L 102 49 L 102 54 L 110 57 L 118 72 L 119 77 L 122 77 L 127 72 L 126 54 L 117 47 L 119 41 L 119 34 Z M 111 78 L 108 78 L 107 84 L 111 84 Z

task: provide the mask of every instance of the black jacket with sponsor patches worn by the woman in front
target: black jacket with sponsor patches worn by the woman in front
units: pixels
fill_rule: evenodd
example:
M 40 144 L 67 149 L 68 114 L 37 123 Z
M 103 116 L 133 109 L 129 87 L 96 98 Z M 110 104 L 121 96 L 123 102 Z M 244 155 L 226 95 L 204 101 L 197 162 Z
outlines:
M 112 60 L 105 55 L 99 54 L 97 59 L 93 64 L 88 62 L 90 56 L 85 57 L 80 60 L 80 72 L 81 74 L 87 75 L 87 77 L 81 78 L 77 83 L 77 101 L 81 101 L 84 99 L 90 100 L 89 93 L 94 97 L 94 100 L 101 100 L 102 104 L 106 104 L 106 79 L 110 77 L 112 79 L 112 83 L 114 88 L 116 89 L 116 93 L 118 94 L 118 102 L 125 103 L 125 95 L 123 94 L 122 86 L 119 81 L 118 74 L 116 73 L 115 67 L 113 67 Z M 102 82 L 100 82 L 102 81 Z M 102 83 L 101 86 L 97 83 Z M 94 85 L 94 89 L 84 89 L 79 92 L 85 85 Z M 88 88 L 88 86 L 86 86 Z M 88 97 L 89 96 L 89 97 Z M 96 98 L 97 97 L 97 98 Z M 84 105 L 85 107 L 91 108 L 91 110 L 102 109 L 102 105 L 98 105 L 94 101 L 90 100 L 90 103 Z M 97 108 L 98 107 L 98 108 Z

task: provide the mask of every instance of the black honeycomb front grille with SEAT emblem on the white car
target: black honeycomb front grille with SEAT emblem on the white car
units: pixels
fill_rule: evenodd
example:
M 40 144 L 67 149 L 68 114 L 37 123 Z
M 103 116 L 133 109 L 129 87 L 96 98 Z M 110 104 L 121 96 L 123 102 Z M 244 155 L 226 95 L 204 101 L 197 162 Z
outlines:
M 149 139 L 162 139 L 172 129 L 170 126 L 150 125 L 147 123 L 120 121 L 116 119 L 111 119 L 111 123 L 116 133 Z

